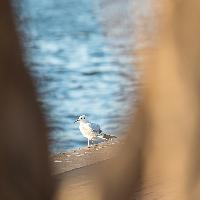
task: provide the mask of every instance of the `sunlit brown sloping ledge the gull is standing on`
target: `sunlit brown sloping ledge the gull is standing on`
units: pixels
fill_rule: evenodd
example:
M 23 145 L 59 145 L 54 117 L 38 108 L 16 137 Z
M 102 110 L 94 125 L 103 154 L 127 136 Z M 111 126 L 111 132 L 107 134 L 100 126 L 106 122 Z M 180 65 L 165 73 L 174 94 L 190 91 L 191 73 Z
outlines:
M 51 156 L 53 174 L 58 175 L 73 169 L 89 166 L 115 156 L 123 144 L 123 139 L 112 139 L 89 148 L 79 148 Z

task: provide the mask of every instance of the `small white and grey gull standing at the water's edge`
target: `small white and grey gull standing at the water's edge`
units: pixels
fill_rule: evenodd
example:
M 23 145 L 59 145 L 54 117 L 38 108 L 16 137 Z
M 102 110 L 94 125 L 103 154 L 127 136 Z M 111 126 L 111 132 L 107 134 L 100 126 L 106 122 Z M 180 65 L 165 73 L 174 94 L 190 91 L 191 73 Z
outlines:
M 109 140 L 116 138 L 116 136 L 103 133 L 100 126 L 98 124 L 89 122 L 85 115 L 79 116 L 74 123 L 76 122 L 79 122 L 79 129 L 82 135 L 88 139 L 88 147 L 90 146 L 90 140 L 93 141 L 98 138 Z

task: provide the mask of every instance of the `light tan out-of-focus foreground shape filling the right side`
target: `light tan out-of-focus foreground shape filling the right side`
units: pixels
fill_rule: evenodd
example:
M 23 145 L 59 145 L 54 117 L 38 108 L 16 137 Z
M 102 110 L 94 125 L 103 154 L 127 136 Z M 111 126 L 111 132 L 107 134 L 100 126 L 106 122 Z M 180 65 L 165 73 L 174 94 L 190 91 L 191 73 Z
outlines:
M 152 1 L 159 8 L 158 37 L 138 54 L 146 59 L 137 116 L 118 157 L 96 168 L 91 187 L 85 184 L 88 199 L 200 199 L 200 2 L 159 4 Z M 70 199 L 83 192 L 63 191 Z

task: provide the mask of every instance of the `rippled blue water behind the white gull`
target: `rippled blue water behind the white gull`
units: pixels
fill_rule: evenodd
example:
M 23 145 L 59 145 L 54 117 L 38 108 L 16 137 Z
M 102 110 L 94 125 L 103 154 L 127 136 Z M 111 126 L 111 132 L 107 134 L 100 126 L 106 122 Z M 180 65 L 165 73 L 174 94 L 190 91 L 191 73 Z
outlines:
M 107 23 L 103 11 L 108 12 L 98 0 L 22 0 L 16 7 L 52 152 L 87 144 L 73 123 L 80 114 L 119 135 L 132 113 L 138 83 L 133 43 L 123 35 L 131 31 L 127 22 Z

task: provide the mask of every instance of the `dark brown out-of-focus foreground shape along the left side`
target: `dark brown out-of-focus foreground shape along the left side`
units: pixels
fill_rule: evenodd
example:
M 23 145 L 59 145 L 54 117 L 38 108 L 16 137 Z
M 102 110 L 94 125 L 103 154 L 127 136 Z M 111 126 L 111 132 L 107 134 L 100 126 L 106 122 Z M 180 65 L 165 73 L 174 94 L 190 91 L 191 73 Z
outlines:
M 22 60 L 9 1 L 0 1 L 0 199 L 51 199 L 47 129 Z

